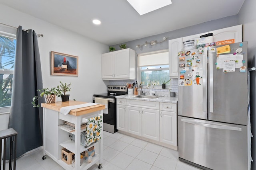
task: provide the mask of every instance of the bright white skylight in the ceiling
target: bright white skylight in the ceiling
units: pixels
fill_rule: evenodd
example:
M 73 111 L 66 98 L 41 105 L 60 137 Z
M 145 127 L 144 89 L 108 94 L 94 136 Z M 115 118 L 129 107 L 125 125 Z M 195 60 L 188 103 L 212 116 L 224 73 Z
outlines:
M 164 6 L 172 4 L 171 0 L 127 0 L 131 6 L 140 14 L 157 10 Z

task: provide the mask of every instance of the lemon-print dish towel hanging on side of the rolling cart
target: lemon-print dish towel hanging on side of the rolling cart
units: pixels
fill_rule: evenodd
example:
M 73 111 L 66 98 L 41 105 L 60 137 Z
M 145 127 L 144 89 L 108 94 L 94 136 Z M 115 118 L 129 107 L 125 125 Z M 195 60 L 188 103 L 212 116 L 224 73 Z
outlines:
M 88 119 L 86 125 L 87 146 L 101 139 L 102 123 L 102 115 Z

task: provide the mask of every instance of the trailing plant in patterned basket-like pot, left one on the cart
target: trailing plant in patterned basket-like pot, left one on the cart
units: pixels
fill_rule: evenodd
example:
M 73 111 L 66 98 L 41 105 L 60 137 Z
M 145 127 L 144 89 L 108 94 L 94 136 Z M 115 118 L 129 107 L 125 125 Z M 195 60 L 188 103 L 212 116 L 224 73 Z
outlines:
M 33 107 L 40 107 L 40 105 L 38 104 L 38 100 L 43 96 L 45 97 L 46 103 L 55 103 L 56 95 L 58 95 L 58 91 L 55 87 L 51 89 L 49 88 L 38 89 L 37 91 L 40 92 L 40 95 L 34 96 L 32 98 L 31 104 L 33 105 Z

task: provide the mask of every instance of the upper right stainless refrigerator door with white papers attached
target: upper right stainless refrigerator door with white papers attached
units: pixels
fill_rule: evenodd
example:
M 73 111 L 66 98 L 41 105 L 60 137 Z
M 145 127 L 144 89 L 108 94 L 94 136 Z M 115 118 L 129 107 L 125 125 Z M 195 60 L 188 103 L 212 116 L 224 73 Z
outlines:
M 212 48 L 218 51 L 217 48 L 220 46 L 209 48 L 208 119 L 247 125 L 247 43 L 243 42 L 242 45 L 241 43 L 234 43 L 229 44 L 229 46 L 230 53 L 218 56 L 216 52 L 210 51 Z M 236 54 L 236 52 L 241 52 L 241 49 L 242 55 Z M 222 68 L 224 60 L 230 61 L 232 58 L 236 64 L 245 66 L 244 72 L 240 72 L 240 68 L 235 68 L 234 72 L 224 72 L 224 68 L 226 68 Z

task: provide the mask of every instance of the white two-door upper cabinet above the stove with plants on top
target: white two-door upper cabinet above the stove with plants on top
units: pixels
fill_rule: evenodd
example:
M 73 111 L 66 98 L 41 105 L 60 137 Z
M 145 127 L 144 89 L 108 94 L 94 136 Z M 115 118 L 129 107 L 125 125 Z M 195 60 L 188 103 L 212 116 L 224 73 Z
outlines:
M 135 80 L 136 52 L 123 49 L 102 54 L 102 80 Z

